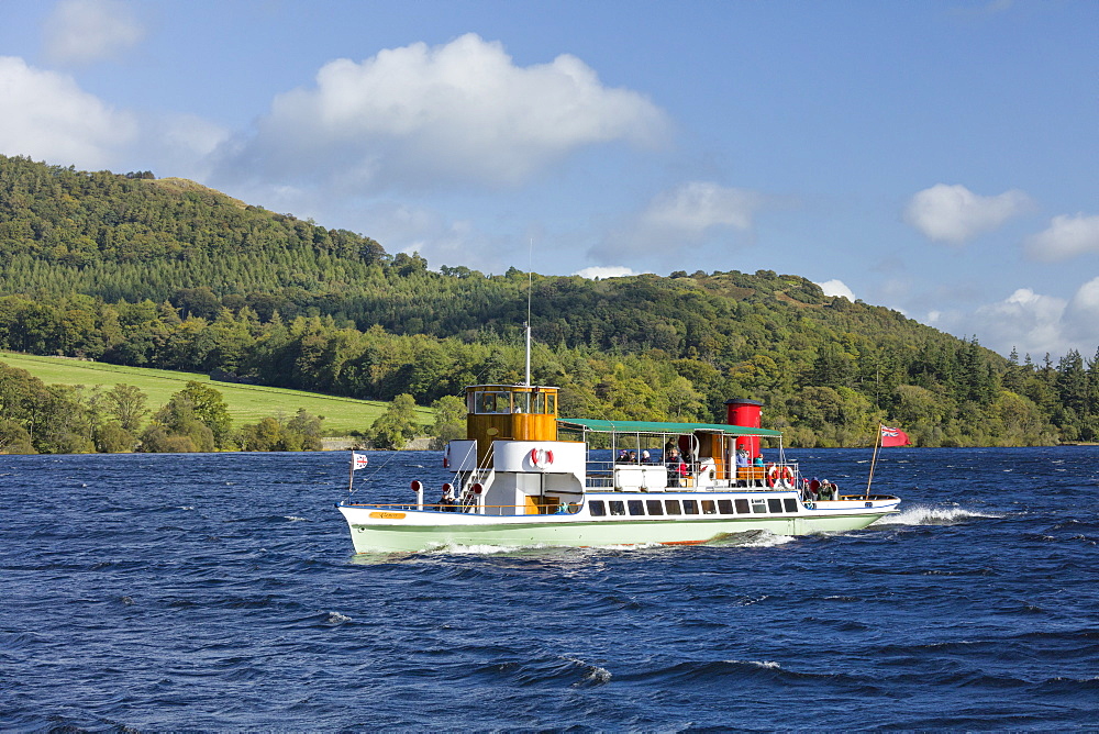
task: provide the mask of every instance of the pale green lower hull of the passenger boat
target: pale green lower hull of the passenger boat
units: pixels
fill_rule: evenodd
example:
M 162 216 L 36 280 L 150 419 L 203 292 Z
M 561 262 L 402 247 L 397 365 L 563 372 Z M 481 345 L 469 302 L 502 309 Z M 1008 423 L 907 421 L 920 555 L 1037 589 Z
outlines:
M 446 545 L 523 547 L 645 545 L 704 543 L 726 533 L 768 531 L 775 535 L 806 535 L 859 530 L 890 512 L 864 514 L 745 518 L 691 521 L 585 521 L 468 525 L 408 525 L 351 523 L 356 553 L 425 550 Z

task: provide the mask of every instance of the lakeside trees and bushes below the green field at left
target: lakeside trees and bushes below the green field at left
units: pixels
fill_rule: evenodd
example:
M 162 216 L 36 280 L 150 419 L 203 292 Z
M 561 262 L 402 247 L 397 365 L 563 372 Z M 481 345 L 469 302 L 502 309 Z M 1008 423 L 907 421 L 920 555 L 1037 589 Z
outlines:
M 45 385 L 0 363 L 0 454 L 321 448 L 322 419 L 299 410 L 234 430 L 221 393 L 201 382 L 188 382 L 155 412 L 147 403 L 132 385 Z

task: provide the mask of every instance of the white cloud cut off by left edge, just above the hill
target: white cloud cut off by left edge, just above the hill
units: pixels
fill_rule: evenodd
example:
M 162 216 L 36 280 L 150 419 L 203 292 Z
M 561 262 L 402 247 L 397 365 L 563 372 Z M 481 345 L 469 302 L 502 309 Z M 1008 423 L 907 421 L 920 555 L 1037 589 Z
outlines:
M 98 169 L 134 141 L 137 124 L 66 75 L 0 56 L 0 151 Z

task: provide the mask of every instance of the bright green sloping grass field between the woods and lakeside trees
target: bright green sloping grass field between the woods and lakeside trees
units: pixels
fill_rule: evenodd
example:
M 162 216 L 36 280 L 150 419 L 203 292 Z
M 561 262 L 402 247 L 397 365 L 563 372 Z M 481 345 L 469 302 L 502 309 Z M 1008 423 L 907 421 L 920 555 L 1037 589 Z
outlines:
M 324 416 L 324 434 L 345 436 L 352 431 L 365 431 L 389 405 L 377 400 L 356 400 L 324 396 L 317 392 L 286 390 L 258 385 L 233 385 L 217 382 L 207 375 L 196 372 L 173 372 L 144 367 L 121 367 L 101 362 L 85 362 L 68 357 L 40 357 L 13 352 L 0 352 L 0 362 L 11 367 L 25 369 L 46 385 L 102 386 L 110 390 L 120 382 L 133 385 L 148 396 L 148 408 L 156 410 L 168 402 L 184 386 L 195 380 L 217 389 L 225 398 L 233 425 L 256 423 L 268 415 L 292 418 L 299 408 L 313 415 Z M 432 411 L 420 408 L 420 422 L 430 424 L 434 420 Z

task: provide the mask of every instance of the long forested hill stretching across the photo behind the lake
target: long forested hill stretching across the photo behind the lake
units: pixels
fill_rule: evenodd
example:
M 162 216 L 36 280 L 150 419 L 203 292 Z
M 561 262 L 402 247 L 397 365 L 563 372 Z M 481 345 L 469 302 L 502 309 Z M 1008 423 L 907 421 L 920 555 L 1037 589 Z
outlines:
M 0 156 L 0 347 L 421 403 L 521 379 L 526 274 L 428 269 L 182 179 Z M 1006 360 L 792 275 L 534 276 L 535 380 L 563 411 L 713 420 L 795 445 L 896 422 L 925 445 L 1090 441 L 1099 366 Z M 0 401 L 3 398 L 0 396 Z

